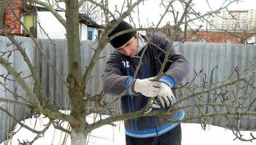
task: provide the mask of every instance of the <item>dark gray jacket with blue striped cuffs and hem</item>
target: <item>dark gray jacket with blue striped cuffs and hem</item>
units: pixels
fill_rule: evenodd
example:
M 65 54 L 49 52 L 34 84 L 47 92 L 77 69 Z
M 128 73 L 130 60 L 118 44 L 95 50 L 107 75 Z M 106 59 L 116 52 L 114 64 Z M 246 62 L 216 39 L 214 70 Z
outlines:
M 150 36 L 149 34 L 147 35 L 148 37 Z M 170 48 L 170 41 L 162 35 L 154 34 L 151 41 L 165 51 Z M 165 54 L 153 44 L 148 45 L 136 78 L 150 78 L 159 73 Z M 142 51 L 138 55 L 140 56 L 141 53 Z M 106 63 L 105 72 L 102 75 L 104 92 L 113 96 L 119 96 L 131 83 L 138 63 L 139 58 L 131 58 L 117 51 L 111 53 Z M 188 61 L 183 55 L 173 49 L 169 55 L 169 61 L 166 64 L 164 73 L 165 75 L 159 81 L 173 88 L 180 84 L 183 78 L 189 74 Z M 173 91 L 173 93 L 176 96 L 176 92 Z M 125 96 L 121 97 L 122 113 L 141 110 L 147 102 L 148 97 L 140 93 L 133 93 L 130 88 Z M 184 111 L 179 110 L 168 117 L 172 120 L 183 119 Z M 165 122 L 158 116 L 143 116 L 125 120 L 124 122 L 126 135 L 137 138 L 160 136 L 178 125 Z

